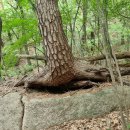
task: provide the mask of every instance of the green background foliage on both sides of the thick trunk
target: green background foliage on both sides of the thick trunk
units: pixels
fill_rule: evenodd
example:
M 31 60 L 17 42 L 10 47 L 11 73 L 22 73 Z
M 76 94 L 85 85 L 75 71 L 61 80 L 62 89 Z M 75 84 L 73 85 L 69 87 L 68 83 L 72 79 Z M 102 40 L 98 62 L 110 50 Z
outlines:
M 32 3 L 30 2 L 32 1 Z M 23 52 L 24 46 L 40 46 L 41 36 L 38 29 L 38 20 L 32 4 L 35 0 L 18 0 L 17 2 L 3 0 L 4 10 L 0 11 L 3 20 L 3 73 L 17 65 L 19 59 L 16 54 Z M 74 54 L 79 56 L 79 52 L 85 55 L 100 53 L 101 44 L 101 25 L 98 21 L 99 7 L 107 9 L 109 32 L 112 44 L 121 43 L 121 36 L 124 36 L 125 42 L 130 37 L 130 1 L 129 0 L 91 0 L 87 2 L 86 14 L 86 33 L 87 42 L 82 41 L 83 37 L 83 6 L 85 0 L 60 0 L 59 9 L 62 16 L 63 28 L 67 34 L 68 41 L 73 47 Z M 106 3 L 107 2 L 107 3 Z M 99 5 L 98 5 L 99 4 Z M 99 7 L 98 7 L 99 6 Z M 76 16 L 77 15 L 77 16 Z M 99 30 L 98 30 L 99 29 Z M 92 39 L 91 33 L 94 33 Z M 72 35 L 73 33 L 73 35 Z M 98 34 L 99 33 L 99 34 Z M 129 44 L 122 45 L 119 51 L 125 51 Z M 77 53 L 78 52 L 78 53 Z M 23 52 L 24 53 L 24 52 Z M 41 53 L 41 52 L 39 52 Z M 88 54 L 89 53 L 89 54 Z

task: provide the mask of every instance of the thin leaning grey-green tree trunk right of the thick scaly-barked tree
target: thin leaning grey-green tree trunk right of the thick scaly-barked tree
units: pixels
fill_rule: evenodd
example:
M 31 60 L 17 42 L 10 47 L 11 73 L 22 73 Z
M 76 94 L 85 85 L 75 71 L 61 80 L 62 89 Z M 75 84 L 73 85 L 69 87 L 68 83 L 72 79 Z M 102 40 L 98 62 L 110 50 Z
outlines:
M 110 72 L 110 76 L 112 79 L 112 85 L 114 87 L 114 91 L 116 94 L 116 97 L 119 101 L 119 109 L 120 109 L 120 115 L 121 115 L 121 119 L 122 119 L 122 128 L 123 130 L 128 130 L 127 129 L 127 124 L 126 124 L 126 119 L 123 115 L 123 103 L 125 102 L 125 97 L 122 96 L 125 94 L 124 92 L 124 88 L 123 88 L 123 81 L 122 81 L 122 77 L 121 77 L 121 71 L 119 69 L 119 65 L 116 59 L 116 55 L 113 51 L 113 48 L 111 47 L 111 41 L 110 41 L 110 35 L 109 35 L 109 31 L 108 31 L 108 20 L 107 20 L 107 15 L 108 15 L 108 1 L 107 0 L 103 0 L 102 3 L 102 8 L 100 8 L 100 4 L 101 1 L 97 0 L 97 4 L 98 4 L 98 9 L 99 9 L 99 16 L 100 16 L 100 20 L 101 20 L 101 24 L 102 24 L 102 35 L 103 35 L 103 47 L 105 49 L 105 56 L 106 56 L 106 61 L 108 64 L 108 69 Z M 115 64 L 115 68 L 113 67 Z M 114 72 L 117 73 L 117 77 L 115 77 Z M 122 87 L 122 93 L 121 95 L 118 94 L 118 88 L 116 85 L 116 78 L 118 78 L 118 81 L 120 82 L 120 85 Z

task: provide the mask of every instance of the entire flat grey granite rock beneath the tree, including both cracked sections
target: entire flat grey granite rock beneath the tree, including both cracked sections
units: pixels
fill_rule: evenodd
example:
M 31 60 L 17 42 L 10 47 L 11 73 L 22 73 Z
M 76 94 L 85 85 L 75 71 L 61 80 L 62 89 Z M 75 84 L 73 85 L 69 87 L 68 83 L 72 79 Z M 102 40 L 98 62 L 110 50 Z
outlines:
M 125 103 L 130 108 L 130 87 L 125 90 Z M 0 130 L 45 130 L 70 120 L 101 116 L 118 106 L 117 96 L 110 88 L 95 94 L 53 98 L 11 92 L 0 96 Z

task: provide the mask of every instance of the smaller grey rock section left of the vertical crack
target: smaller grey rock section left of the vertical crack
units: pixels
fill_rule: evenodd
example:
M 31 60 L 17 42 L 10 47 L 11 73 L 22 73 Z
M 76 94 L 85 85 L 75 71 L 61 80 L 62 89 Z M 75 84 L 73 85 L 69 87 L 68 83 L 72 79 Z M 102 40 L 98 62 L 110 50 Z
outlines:
M 21 130 L 23 107 L 19 93 L 0 96 L 0 130 Z

